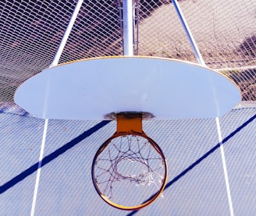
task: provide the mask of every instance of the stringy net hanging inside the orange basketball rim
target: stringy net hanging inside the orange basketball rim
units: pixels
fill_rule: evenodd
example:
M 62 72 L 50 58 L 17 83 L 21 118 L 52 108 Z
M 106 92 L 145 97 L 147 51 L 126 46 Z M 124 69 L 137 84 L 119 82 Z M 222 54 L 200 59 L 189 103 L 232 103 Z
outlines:
M 119 139 L 119 142 L 110 141 L 107 149 L 106 155 L 101 152 L 101 155 L 98 156 L 96 161 L 98 172 L 95 175 L 96 183 L 103 188 L 102 192 L 105 197 L 112 199 L 113 193 L 115 193 L 113 191 L 115 183 L 123 180 L 134 183 L 136 186 L 150 186 L 153 183 L 156 189 L 159 190 L 158 183 L 161 185 L 164 179 L 163 174 L 160 173 L 163 162 L 160 155 L 152 155 L 152 150 L 155 148 L 152 147 L 149 141 L 141 141 L 141 138 L 133 135 L 123 136 Z M 103 163 L 101 164 L 101 162 Z M 122 164 L 125 162 L 129 162 L 131 165 L 133 165 L 133 162 L 138 162 L 144 169 L 140 173 L 124 174 L 122 173 L 123 170 L 120 171 L 119 169 L 125 169 Z M 155 163 L 158 163 L 156 167 Z M 108 164 L 108 168 L 105 168 L 106 164 Z

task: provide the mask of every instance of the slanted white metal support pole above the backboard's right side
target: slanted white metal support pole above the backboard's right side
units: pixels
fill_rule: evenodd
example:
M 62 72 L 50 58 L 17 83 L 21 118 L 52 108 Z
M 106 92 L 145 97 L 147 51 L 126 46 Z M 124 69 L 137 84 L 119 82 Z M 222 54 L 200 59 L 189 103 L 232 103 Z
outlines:
M 204 63 L 204 60 L 203 60 L 203 57 L 201 56 L 201 53 L 197 47 L 197 44 L 196 42 L 194 41 L 194 37 L 192 35 L 192 33 L 190 32 L 190 28 L 189 26 L 187 25 L 187 22 L 183 16 L 183 13 L 180 9 L 180 5 L 178 4 L 177 0 L 172 0 L 172 3 L 174 5 L 174 8 L 176 9 L 176 12 L 180 18 L 180 22 L 182 23 L 183 25 L 183 28 L 187 34 L 187 37 L 188 37 L 188 40 L 190 40 L 190 45 L 194 51 L 194 54 L 195 56 L 197 57 L 197 62 L 203 66 L 205 66 L 205 63 Z

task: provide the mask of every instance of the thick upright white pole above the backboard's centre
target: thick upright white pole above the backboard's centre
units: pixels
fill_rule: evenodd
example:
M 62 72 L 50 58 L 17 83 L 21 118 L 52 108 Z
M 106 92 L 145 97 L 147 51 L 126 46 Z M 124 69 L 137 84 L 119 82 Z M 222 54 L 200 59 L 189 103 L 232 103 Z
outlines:
M 133 0 L 123 0 L 123 54 L 133 56 Z

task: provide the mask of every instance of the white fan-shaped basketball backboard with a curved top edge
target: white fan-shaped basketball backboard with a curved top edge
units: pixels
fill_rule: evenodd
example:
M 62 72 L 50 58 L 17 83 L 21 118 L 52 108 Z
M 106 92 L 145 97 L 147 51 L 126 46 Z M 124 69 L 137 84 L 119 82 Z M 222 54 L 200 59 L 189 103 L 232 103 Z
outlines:
M 234 82 L 210 68 L 162 57 L 97 57 L 44 69 L 16 90 L 34 117 L 104 120 L 147 112 L 155 119 L 220 117 L 240 102 Z

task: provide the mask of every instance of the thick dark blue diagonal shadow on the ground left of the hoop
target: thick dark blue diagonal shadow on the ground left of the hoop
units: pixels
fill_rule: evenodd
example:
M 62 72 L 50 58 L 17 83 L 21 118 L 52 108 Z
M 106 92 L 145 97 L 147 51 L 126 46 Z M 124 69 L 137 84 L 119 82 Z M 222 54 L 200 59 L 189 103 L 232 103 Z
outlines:
M 91 136 L 91 134 L 94 134 L 94 132 L 98 131 L 101 127 L 104 127 L 109 122 L 110 120 L 101 121 L 99 124 L 96 124 L 94 127 L 91 127 L 88 131 L 84 131 L 83 134 L 80 134 L 72 141 L 69 141 L 66 145 L 63 145 L 61 148 L 55 150 L 55 152 L 52 152 L 50 155 L 45 156 L 44 159 L 42 159 L 41 161 L 41 167 L 47 165 L 49 162 L 52 162 L 52 160 L 59 157 L 59 155 L 62 155 L 70 148 L 73 148 L 80 141 L 83 141 L 85 138 Z M 0 194 L 4 193 L 6 190 L 9 190 L 12 186 L 15 186 L 17 183 L 20 183 L 20 181 L 27 178 L 27 176 L 30 176 L 30 174 L 32 174 L 33 172 L 36 172 L 38 169 L 38 165 L 39 162 L 34 163 L 34 165 L 31 165 L 30 168 L 24 170 L 19 175 L 15 176 L 14 178 L 10 179 L 7 183 L 4 183 L 2 186 L 0 186 Z

